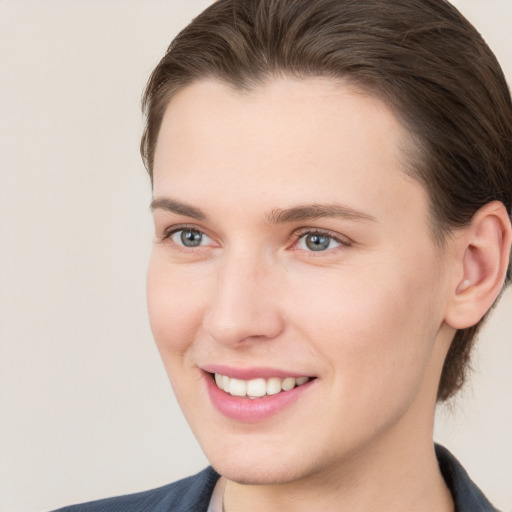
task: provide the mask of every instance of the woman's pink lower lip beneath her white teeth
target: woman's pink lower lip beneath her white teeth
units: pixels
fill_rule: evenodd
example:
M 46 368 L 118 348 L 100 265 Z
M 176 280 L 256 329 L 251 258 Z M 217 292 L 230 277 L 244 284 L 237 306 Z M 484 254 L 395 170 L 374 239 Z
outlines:
M 312 379 L 289 391 L 253 399 L 232 396 L 219 389 L 211 374 L 205 374 L 205 380 L 214 407 L 224 416 L 244 423 L 256 423 L 279 414 L 296 402 L 316 381 Z

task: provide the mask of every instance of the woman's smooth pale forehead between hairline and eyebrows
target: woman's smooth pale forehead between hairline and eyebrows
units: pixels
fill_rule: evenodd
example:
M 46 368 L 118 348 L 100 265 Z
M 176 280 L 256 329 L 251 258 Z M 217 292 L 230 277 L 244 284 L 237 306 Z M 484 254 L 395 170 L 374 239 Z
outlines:
M 198 82 L 167 107 L 154 191 L 245 197 L 246 206 L 256 195 L 270 209 L 340 201 L 374 217 L 418 204 L 426 213 L 423 188 L 404 172 L 409 145 L 391 110 L 349 84 L 282 78 L 247 92 Z

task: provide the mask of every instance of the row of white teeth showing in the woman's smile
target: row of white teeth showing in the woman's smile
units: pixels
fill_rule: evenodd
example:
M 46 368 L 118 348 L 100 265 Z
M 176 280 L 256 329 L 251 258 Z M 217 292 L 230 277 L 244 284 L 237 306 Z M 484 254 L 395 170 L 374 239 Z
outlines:
M 219 373 L 215 374 L 215 383 L 219 389 L 233 396 L 247 396 L 249 398 L 260 398 L 265 395 L 276 395 L 281 391 L 290 391 L 295 386 L 302 386 L 309 380 L 309 377 L 286 377 L 284 379 L 271 377 L 266 380 L 261 378 L 242 380 Z

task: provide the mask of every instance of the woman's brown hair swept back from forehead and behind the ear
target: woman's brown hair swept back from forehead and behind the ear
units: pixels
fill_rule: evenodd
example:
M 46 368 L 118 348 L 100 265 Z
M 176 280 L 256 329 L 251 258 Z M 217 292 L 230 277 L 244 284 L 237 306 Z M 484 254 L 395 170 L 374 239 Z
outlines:
M 511 214 L 510 93 L 485 41 L 445 0 L 217 0 L 174 39 L 147 84 L 141 153 L 151 179 L 176 92 L 205 79 L 251 90 L 277 76 L 348 81 L 395 112 L 415 143 L 407 172 L 428 192 L 439 245 L 490 201 Z M 457 331 L 438 401 L 462 387 L 482 321 Z

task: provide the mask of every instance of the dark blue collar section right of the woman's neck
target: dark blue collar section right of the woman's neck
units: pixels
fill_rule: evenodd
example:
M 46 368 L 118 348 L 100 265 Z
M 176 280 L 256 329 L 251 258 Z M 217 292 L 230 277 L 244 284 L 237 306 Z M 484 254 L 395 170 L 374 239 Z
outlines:
M 498 512 L 460 462 L 444 446 L 436 444 L 435 448 L 439 469 L 452 493 L 456 512 Z

